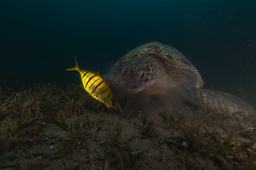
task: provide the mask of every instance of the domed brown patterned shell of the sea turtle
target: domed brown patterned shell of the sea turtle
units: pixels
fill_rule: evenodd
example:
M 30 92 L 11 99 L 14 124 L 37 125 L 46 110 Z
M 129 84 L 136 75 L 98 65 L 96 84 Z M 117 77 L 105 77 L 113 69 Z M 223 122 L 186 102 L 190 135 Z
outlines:
M 188 83 L 188 86 L 192 85 L 197 88 L 203 86 L 203 79 L 195 66 L 172 46 L 159 42 L 149 42 L 134 48 L 115 63 L 111 72 L 120 74 L 127 62 L 140 56 L 150 56 L 160 63 L 163 68 L 160 78 L 161 76 L 170 78 L 175 80 L 178 85 Z

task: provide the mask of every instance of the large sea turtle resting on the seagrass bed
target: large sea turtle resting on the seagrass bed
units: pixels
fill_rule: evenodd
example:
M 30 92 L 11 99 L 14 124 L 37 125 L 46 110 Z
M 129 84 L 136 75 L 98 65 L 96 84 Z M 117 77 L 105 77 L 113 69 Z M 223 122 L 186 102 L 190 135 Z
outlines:
M 197 107 L 243 111 L 254 114 L 253 107 L 226 92 L 208 90 L 195 66 L 175 48 L 159 42 L 138 46 L 123 56 L 110 73 L 102 76 L 111 88 L 123 88 L 128 94 L 170 95 L 175 90 Z M 117 95 L 118 94 L 114 94 Z

